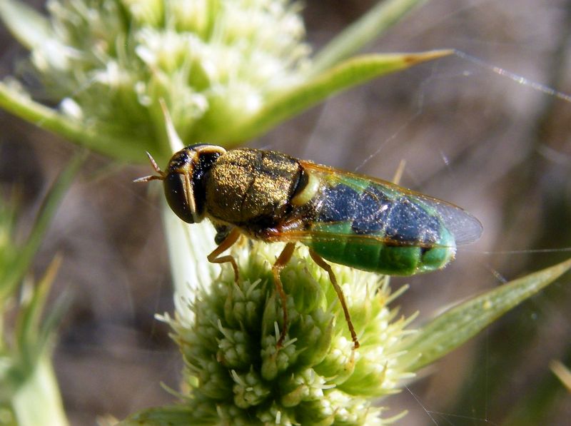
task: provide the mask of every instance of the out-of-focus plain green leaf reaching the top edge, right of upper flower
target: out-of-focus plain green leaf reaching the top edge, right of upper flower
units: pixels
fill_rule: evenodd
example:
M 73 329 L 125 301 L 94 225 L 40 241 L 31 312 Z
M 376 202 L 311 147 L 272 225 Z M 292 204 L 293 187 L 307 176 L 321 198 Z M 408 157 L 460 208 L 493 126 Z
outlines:
M 365 44 L 378 37 L 390 26 L 400 21 L 415 6 L 425 0 L 388 0 L 380 1 L 367 14 L 348 26 L 335 39 L 329 42 L 315 56 L 310 73 L 315 75 L 338 64 L 351 54 L 359 51 Z

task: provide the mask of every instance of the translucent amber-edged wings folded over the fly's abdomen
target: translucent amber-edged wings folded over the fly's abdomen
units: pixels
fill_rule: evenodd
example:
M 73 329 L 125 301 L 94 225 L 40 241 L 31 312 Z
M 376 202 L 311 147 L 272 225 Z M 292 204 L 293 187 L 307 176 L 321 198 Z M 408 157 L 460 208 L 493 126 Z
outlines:
M 453 235 L 455 245 L 480 238 L 481 223 L 453 204 L 425 196 L 387 181 L 338 171 L 328 166 L 300 161 L 310 178 L 317 179 L 319 191 L 312 198 L 315 223 L 338 223 L 338 235 L 365 244 L 413 245 L 434 247 L 440 240 L 442 225 Z M 345 226 L 342 226 L 343 223 Z M 279 240 L 335 238 L 329 227 L 280 232 Z

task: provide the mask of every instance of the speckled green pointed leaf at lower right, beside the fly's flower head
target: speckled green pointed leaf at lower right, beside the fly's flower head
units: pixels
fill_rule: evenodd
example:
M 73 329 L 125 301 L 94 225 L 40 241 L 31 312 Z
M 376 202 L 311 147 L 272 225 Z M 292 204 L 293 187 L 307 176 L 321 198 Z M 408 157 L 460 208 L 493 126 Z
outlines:
M 403 349 L 408 351 L 403 365 L 416 371 L 438 360 L 570 268 L 571 259 L 501 285 L 439 315 L 403 342 Z

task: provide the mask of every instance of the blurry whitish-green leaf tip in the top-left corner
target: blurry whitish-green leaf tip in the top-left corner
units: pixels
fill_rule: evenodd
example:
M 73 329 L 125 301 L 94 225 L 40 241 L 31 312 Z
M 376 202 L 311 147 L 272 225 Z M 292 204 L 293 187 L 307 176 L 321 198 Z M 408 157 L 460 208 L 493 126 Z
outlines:
M 49 20 L 21 0 L 0 0 L 0 19 L 27 49 L 53 36 Z

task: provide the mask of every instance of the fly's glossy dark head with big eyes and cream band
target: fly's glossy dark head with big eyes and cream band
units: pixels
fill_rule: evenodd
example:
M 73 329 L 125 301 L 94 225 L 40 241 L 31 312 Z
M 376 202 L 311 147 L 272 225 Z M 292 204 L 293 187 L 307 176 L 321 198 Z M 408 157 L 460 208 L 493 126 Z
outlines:
M 163 188 L 174 213 L 187 223 L 200 222 L 206 213 L 206 181 L 218 158 L 226 153 L 221 146 L 186 146 L 168 162 Z

